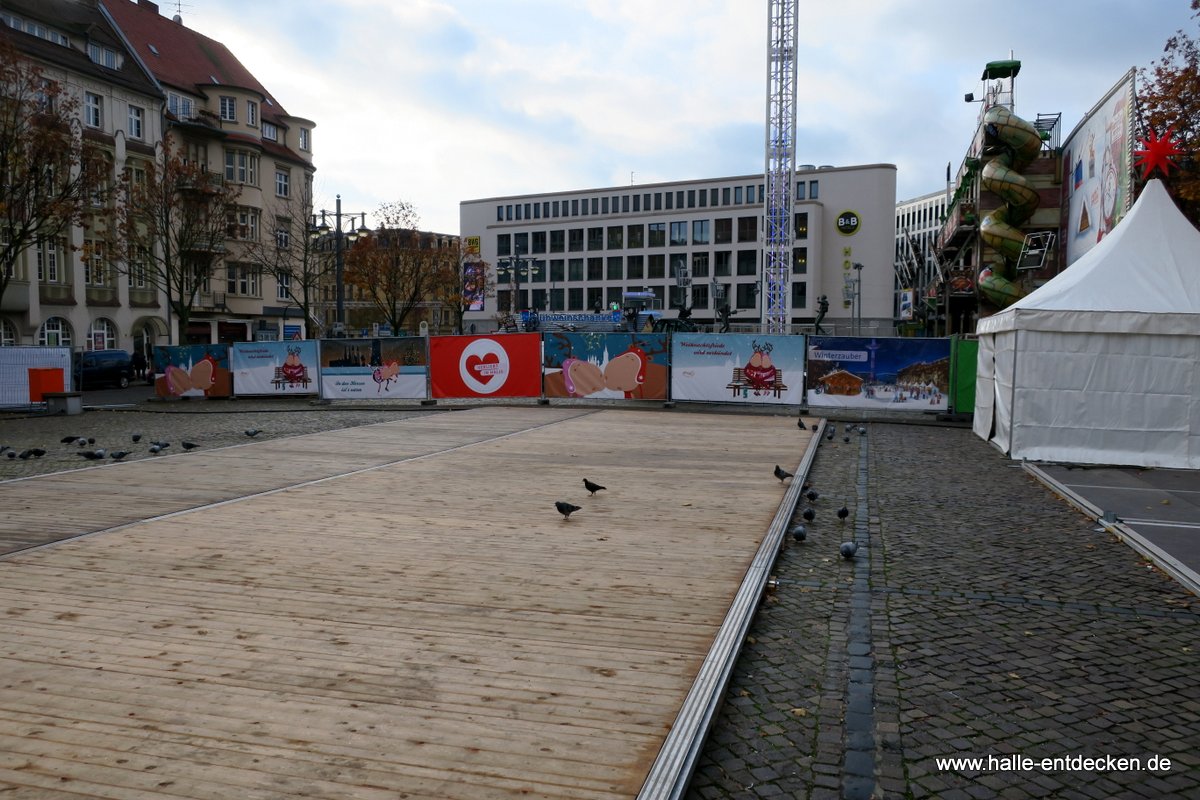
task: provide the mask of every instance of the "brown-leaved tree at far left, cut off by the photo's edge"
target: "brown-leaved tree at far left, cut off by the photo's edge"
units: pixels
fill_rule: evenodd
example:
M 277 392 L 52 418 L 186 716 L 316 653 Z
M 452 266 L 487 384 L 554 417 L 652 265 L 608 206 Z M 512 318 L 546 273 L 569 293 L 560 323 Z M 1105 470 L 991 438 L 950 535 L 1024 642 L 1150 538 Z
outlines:
M 0 41 L 0 299 L 23 252 L 76 224 L 103 227 L 110 175 L 107 151 L 83 136 L 79 101 Z

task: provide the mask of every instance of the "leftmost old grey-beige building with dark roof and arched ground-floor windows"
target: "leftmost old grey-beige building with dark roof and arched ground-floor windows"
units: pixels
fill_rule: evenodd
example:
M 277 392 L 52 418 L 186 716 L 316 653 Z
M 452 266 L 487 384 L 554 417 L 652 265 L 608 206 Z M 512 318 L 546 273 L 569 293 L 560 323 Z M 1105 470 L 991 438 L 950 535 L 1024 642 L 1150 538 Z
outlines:
M 95 2 L 5 0 L 0 24 L 5 43 L 58 84 L 62 108 L 65 98 L 78 104 L 82 134 L 103 149 L 112 182 L 154 158 L 162 94 Z M 0 345 L 128 348 L 167 332 L 163 307 L 152 288 L 112 269 L 101 236 L 76 225 L 17 257 L 0 300 Z

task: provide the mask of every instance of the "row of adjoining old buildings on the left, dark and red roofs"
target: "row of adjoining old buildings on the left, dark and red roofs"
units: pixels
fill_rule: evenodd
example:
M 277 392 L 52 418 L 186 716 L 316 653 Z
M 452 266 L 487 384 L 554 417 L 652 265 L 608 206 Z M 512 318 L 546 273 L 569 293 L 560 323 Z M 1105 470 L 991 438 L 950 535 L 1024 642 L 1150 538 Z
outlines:
M 148 0 L 2 0 L 0 23 L 20 56 L 77 100 L 84 136 L 112 154 L 114 186 L 174 154 L 240 190 L 187 330 L 175 330 L 161 281 L 108 252 L 112 236 L 76 227 L 20 254 L 0 303 L 0 344 L 145 353 L 275 338 L 289 312 L 301 321 L 288 276 L 268 263 L 278 260 L 271 251 L 307 242 L 312 121 L 289 115 L 223 44 Z

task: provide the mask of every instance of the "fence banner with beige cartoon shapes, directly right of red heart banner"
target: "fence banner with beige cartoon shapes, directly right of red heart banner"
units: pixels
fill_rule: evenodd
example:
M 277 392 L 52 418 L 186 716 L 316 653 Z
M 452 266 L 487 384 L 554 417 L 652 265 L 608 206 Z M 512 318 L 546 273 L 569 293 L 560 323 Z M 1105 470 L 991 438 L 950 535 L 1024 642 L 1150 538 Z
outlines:
M 542 353 L 546 397 L 667 398 L 666 333 L 546 333 Z

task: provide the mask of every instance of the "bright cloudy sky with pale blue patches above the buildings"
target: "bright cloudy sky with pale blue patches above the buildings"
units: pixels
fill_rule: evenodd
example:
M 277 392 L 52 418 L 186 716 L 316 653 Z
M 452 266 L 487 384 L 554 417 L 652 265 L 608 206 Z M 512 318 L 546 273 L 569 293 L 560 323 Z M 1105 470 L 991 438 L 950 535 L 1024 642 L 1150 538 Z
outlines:
M 179 6 L 158 0 L 163 13 Z M 185 0 L 292 114 L 317 122 L 318 207 L 458 203 L 761 173 L 767 0 Z M 797 164 L 893 163 L 944 187 L 988 61 L 1066 138 L 1129 67 L 1196 34 L 1188 0 L 800 0 Z M 470 231 L 466 231 L 470 233 Z

